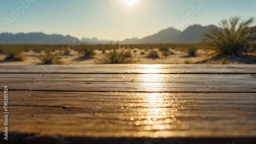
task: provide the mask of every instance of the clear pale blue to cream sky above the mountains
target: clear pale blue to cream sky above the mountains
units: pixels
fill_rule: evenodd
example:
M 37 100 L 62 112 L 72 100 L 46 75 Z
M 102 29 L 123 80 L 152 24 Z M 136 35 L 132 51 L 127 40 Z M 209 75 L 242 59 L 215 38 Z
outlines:
M 113 10 L 110 0 L 21 0 L 30 2 L 24 13 L 6 24 L 6 17 L 12 18 L 12 9 L 23 12 L 20 0 L 0 0 L 0 33 L 43 32 L 83 36 L 88 38 L 123 40 L 142 38 L 169 27 L 177 28 L 182 14 L 191 11 L 190 6 L 199 5 L 200 0 L 137 0 L 135 4 L 121 3 Z M 134 0 L 111 0 L 134 1 Z M 20 7 L 22 6 L 22 7 Z M 193 15 L 192 15 L 193 16 Z M 217 25 L 221 19 L 241 16 L 256 18 L 255 0 L 205 0 L 189 22 L 189 25 Z M 16 18 L 16 17 L 14 17 Z M 8 19 L 10 20 L 10 19 Z

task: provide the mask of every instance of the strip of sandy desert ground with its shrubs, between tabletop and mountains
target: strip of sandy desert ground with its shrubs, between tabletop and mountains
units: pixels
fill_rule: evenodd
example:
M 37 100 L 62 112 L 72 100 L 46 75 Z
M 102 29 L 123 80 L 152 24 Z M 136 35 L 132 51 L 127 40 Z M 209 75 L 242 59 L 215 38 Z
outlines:
M 242 23 L 250 23 L 250 21 Z M 228 25 L 225 22 L 227 21 L 223 21 L 223 25 Z M 232 18 L 229 25 L 233 23 L 233 26 L 238 22 L 239 18 Z M 228 27 L 225 28 L 226 31 L 215 31 L 213 28 L 209 31 L 216 32 L 213 34 L 215 37 L 206 34 L 203 42 L 187 44 L 2 44 L 0 64 L 254 64 L 256 63 L 255 45 L 246 41 L 248 37 L 244 34 L 250 34 L 250 29 L 240 25 L 238 28 L 240 29 L 233 30 L 234 28 Z M 228 35 L 229 38 L 224 39 L 223 35 Z M 236 35 L 240 39 L 232 38 Z M 234 48 L 227 48 L 230 45 Z M 243 50 L 244 45 L 249 47 L 246 49 L 248 51 L 240 51 Z M 230 52 L 236 57 L 240 56 L 239 60 L 238 58 L 231 60 L 228 55 Z

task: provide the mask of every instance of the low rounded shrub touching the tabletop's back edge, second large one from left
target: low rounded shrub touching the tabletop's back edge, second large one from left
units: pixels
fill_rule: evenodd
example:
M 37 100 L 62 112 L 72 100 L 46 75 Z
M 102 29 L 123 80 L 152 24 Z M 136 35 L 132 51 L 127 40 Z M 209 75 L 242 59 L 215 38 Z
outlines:
M 46 52 L 45 55 L 39 55 L 37 58 L 41 61 L 40 64 L 62 64 L 62 58 L 58 54 Z

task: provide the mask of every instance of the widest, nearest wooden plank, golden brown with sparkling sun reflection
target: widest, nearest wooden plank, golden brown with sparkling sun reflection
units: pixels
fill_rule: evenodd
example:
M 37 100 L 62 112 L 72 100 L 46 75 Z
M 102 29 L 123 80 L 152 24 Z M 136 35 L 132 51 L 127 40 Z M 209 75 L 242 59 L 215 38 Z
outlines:
M 16 133 L 83 137 L 256 136 L 255 93 L 9 94 L 9 131 Z

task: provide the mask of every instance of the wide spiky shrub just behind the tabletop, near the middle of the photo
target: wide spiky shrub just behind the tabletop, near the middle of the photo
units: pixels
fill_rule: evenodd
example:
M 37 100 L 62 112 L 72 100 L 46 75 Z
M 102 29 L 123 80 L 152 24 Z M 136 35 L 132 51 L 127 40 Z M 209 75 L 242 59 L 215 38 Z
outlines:
M 125 57 L 125 49 L 113 49 L 103 59 L 98 59 L 102 64 L 133 63 L 134 57 Z

